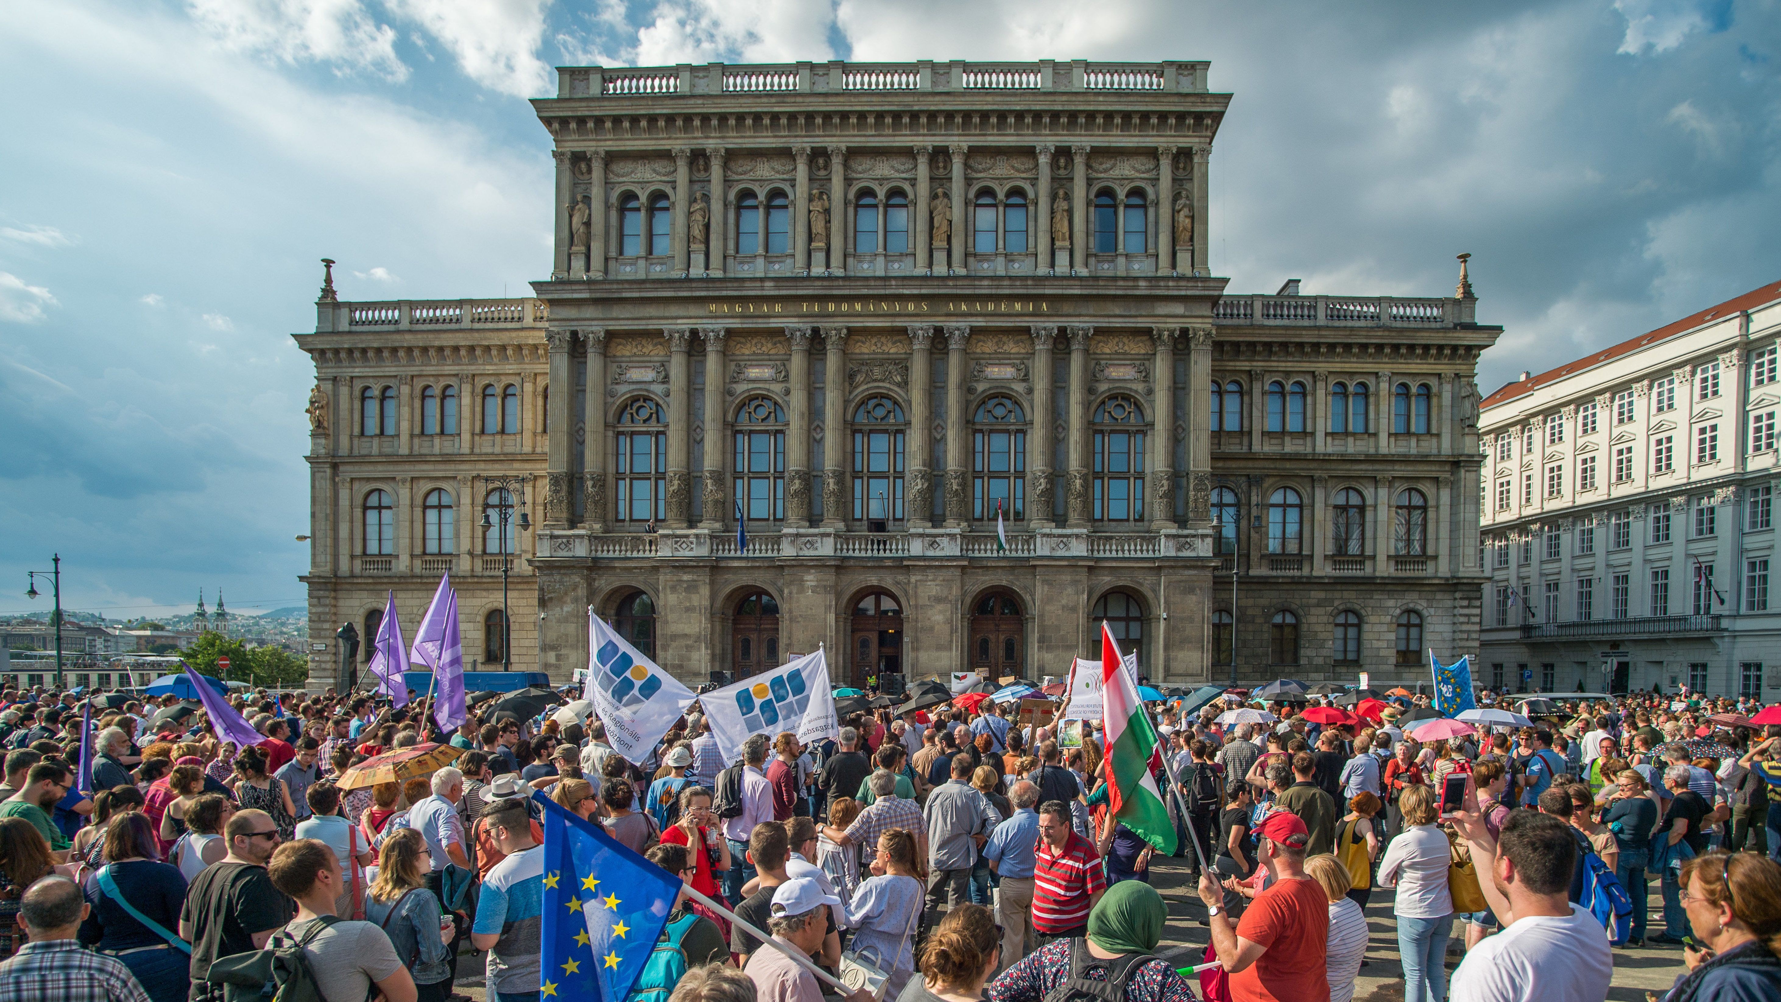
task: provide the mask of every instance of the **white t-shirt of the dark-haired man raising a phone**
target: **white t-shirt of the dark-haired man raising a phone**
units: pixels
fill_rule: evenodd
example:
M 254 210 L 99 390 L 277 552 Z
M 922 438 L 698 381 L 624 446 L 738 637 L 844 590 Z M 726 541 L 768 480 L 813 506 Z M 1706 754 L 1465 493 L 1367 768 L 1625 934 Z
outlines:
M 1485 936 L 1453 972 L 1452 1002 L 1601 1002 L 1614 981 L 1608 933 L 1582 906 Z

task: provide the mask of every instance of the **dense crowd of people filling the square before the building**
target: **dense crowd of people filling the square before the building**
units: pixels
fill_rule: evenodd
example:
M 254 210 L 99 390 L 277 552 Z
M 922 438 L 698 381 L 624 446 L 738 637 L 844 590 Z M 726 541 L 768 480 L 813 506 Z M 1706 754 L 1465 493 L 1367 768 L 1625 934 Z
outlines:
M 1667 1002 L 1781 998 L 1781 728 L 1749 701 L 1553 701 L 1428 740 L 1411 694 L 1156 703 L 1193 956 L 1165 945 L 1167 840 L 1111 813 L 1067 705 L 892 705 L 725 762 L 695 703 L 630 762 L 557 707 L 447 735 L 426 699 L 233 703 L 260 740 L 171 696 L 0 692 L 0 1002 L 223 1002 L 274 966 L 329 1002 L 445 1002 L 468 950 L 492 1002 L 538 1000 L 534 792 L 696 892 L 639 1002 L 1346 1002 L 1387 895 L 1407 1002 L 1596 1002 L 1614 943 L 1681 949 Z

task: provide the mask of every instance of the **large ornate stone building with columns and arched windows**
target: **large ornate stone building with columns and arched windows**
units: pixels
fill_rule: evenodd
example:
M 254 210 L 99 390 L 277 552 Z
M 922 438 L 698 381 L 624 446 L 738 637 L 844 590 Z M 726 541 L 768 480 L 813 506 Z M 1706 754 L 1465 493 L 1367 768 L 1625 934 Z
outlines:
M 329 278 L 296 335 L 312 683 L 447 571 L 467 667 L 557 682 L 590 607 L 691 683 L 1061 676 L 1102 619 L 1156 683 L 1476 651 L 1500 327 L 1464 258 L 1227 292 L 1229 101 L 1206 62 L 561 69 L 534 295 Z

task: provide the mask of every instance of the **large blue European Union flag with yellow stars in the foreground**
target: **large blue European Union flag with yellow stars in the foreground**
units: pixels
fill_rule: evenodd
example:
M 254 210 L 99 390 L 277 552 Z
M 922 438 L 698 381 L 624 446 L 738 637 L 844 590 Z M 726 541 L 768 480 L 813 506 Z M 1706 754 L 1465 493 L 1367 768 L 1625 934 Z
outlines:
M 534 792 L 545 820 L 543 998 L 622 1002 L 680 893 L 670 874 Z

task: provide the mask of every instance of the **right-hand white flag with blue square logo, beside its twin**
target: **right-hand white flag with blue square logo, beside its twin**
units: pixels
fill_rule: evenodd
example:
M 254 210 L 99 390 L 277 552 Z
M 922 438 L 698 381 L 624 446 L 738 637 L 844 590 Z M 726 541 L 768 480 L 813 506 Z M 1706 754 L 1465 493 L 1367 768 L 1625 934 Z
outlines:
M 821 650 L 705 692 L 698 705 L 705 708 L 711 737 L 718 739 L 718 753 L 725 762 L 741 758 L 743 742 L 757 733 L 773 737 L 791 731 L 803 744 L 841 735 L 835 691 L 828 683 L 828 659 Z

